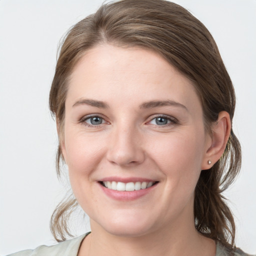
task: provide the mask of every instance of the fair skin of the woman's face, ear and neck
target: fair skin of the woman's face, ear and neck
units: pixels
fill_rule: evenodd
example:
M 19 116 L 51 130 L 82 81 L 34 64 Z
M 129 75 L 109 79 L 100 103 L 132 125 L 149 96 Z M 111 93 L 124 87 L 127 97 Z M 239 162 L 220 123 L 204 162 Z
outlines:
M 78 255 L 215 255 L 194 227 L 194 188 L 228 114 L 209 135 L 192 82 L 147 49 L 96 46 L 70 78 L 61 149 L 92 230 Z

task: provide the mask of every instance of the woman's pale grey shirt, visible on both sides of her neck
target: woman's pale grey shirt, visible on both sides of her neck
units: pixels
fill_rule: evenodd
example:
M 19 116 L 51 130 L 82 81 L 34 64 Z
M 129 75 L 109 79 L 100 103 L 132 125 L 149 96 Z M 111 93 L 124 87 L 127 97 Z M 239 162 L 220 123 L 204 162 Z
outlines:
M 88 233 L 70 240 L 59 242 L 55 245 L 41 245 L 33 250 L 22 250 L 7 256 L 77 256 L 80 244 L 87 234 Z M 215 256 L 229 255 L 230 253 L 228 253 L 227 249 L 217 243 Z M 236 249 L 234 256 L 249 256 L 249 254 L 244 253 L 240 249 Z

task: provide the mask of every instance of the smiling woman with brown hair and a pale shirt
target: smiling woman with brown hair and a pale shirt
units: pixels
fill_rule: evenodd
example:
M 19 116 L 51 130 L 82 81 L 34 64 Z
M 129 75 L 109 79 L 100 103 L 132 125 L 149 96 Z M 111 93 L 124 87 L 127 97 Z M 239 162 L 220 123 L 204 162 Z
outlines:
M 66 36 L 49 96 L 91 233 L 16 255 L 245 255 L 221 192 L 240 168 L 235 97 L 207 29 L 171 2 L 103 5 Z M 229 239 L 230 238 L 230 239 Z

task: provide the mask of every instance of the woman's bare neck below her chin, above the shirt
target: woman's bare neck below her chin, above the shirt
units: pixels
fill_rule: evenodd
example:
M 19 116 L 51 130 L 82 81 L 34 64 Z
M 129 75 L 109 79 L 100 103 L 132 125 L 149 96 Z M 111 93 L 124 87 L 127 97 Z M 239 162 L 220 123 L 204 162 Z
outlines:
M 91 230 L 78 256 L 215 255 L 215 242 L 200 235 L 193 222 L 178 223 L 175 227 L 168 226 L 136 237 L 111 234 L 93 220 Z

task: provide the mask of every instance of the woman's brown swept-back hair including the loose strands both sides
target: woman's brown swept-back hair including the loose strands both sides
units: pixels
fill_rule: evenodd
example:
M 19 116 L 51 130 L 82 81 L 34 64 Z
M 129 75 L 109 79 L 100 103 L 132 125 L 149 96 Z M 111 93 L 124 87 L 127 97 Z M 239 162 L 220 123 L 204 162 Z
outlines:
M 102 5 L 95 14 L 75 24 L 63 40 L 49 95 L 50 110 L 56 116 L 60 136 L 68 77 L 84 52 L 100 43 L 154 50 L 194 82 L 209 131 L 220 111 L 227 111 L 232 121 L 235 106 L 232 82 L 205 26 L 172 2 L 121 0 Z M 59 146 L 58 175 L 61 157 Z M 235 225 L 221 193 L 233 182 L 240 163 L 240 145 L 231 130 L 223 155 L 210 169 L 201 171 L 195 188 L 196 229 L 229 248 L 234 246 Z M 66 221 L 75 205 L 76 200 L 68 198 L 53 212 L 51 231 L 57 240 L 65 239 Z

